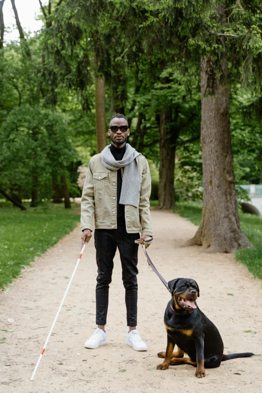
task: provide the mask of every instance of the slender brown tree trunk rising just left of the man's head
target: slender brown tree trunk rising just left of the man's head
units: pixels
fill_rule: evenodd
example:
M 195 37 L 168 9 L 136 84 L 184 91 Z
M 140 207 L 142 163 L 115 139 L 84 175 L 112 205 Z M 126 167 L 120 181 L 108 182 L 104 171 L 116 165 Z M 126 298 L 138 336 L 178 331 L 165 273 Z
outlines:
M 106 147 L 105 135 L 105 93 L 104 77 L 95 77 L 95 127 L 96 127 L 96 152 Z

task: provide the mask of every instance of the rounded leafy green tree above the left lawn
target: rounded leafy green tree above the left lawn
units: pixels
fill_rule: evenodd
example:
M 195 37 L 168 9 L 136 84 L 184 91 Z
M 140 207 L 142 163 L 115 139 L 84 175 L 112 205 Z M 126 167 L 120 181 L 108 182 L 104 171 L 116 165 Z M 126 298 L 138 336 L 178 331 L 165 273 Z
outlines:
M 0 128 L 2 187 L 30 197 L 33 176 L 41 198 L 52 197 L 52 176 L 76 160 L 62 113 L 23 104 L 12 109 Z

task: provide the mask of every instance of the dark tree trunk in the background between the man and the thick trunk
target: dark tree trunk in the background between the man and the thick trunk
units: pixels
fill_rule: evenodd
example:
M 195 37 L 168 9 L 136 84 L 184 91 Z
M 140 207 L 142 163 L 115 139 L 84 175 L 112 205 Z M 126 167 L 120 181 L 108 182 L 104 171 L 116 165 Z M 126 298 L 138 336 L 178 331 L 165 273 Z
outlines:
M 171 108 L 165 109 L 159 116 L 159 208 L 175 207 L 174 171 L 176 153 L 176 135 L 171 127 Z

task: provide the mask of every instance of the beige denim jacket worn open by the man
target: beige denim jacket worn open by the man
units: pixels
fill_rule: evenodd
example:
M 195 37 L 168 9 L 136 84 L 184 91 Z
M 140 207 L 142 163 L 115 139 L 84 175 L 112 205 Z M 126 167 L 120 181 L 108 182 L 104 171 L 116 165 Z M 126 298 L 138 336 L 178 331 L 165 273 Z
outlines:
M 147 159 L 138 156 L 140 178 L 139 207 L 124 206 L 126 231 L 141 232 L 153 236 L 149 198 L 151 194 L 151 176 Z M 124 170 L 124 169 L 123 169 Z M 123 174 L 122 170 L 122 174 Z M 116 180 L 117 171 L 111 171 L 102 164 L 101 154 L 93 156 L 84 183 L 81 200 L 81 230 L 116 229 Z

